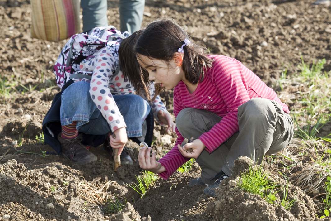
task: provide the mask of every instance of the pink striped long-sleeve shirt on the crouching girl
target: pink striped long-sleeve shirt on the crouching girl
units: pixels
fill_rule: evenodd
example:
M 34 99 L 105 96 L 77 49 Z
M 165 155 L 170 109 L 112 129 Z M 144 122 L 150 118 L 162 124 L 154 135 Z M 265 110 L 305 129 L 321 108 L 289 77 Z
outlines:
M 211 130 L 199 137 L 206 151 L 212 153 L 239 130 L 238 107 L 252 98 L 274 100 L 283 106 L 284 112 L 289 113 L 288 107 L 279 100 L 276 93 L 241 62 L 223 55 L 209 57 L 214 60 L 213 66 L 205 72 L 205 78 L 197 89 L 190 94 L 184 82 L 180 81 L 173 93 L 173 113 L 176 117 L 184 108 L 209 110 L 222 117 Z M 163 179 L 169 178 L 189 160 L 177 148 L 177 144 L 181 144 L 184 138 L 177 128 L 176 133 L 178 138 L 175 146 L 159 160 L 166 168 L 166 172 L 160 174 Z

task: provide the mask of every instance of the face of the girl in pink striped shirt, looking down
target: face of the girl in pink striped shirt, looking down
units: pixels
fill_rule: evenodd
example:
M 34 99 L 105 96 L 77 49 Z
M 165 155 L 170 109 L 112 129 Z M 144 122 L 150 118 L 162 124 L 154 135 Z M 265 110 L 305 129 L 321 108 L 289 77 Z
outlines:
M 179 60 L 178 60 L 179 59 Z M 156 84 L 161 84 L 170 90 L 173 89 L 181 80 L 184 80 L 184 72 L 180 67 L 180 58 L 175 58 L 170 62 L 164 60 L 150 59 L 147 56 L 137 54 L 137 60 L 141 67 L 148 71 L 148 78 Z

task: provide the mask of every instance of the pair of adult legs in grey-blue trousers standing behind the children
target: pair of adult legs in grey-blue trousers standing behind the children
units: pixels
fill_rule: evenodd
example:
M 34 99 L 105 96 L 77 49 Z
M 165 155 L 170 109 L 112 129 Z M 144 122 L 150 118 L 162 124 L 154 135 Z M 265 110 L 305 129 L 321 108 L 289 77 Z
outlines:
M 107 0 L 81 0 L 83 32 L 107 26 Z M 120 31 L 133 33 L 140 29 L 145 0 L 119 0 Z

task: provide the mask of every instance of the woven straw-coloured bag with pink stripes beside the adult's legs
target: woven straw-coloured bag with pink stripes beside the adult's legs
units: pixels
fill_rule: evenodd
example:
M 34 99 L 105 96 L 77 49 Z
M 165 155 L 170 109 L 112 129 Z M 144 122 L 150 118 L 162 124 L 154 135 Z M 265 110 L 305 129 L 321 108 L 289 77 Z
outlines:
M 79 0 L 31 0 L 31 37 L 60 41 L 80 31 Z

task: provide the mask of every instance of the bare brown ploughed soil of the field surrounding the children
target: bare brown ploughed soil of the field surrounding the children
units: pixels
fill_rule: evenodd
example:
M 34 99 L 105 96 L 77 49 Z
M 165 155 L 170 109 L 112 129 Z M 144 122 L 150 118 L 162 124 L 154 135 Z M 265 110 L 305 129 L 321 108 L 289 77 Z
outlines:
M 146 0 L 142 27 L 161 16 L 173 18 L 196 43 L 212 54 L 240 60 L 279 91 L 280 73 L 295 73 L 301 59 L 312 63 L 325 58 L 324 70 L 331 70 L 331 7 L 313 2 Z M 89 165 L 75 165 L 52 154 L 43 157 L 42 151 L 52 149 L 35 137 L 59 92 L 52 68 L 66 41 L 31 38 L 30 14 L 29 1 L 0 0 L 1 81 L 12 85 L 10 95 L 3 96 L 0 104 L 0 220 L 5 215 L 12 220 L 313 220 L 320 214 L 320 201 L 293 185 L 289 191 L 296 191 L 300 200 L 290 212 L 233 190 L 228 182 L 216 198 L 205 196 L 203 187 L 187 186 L 190 179 L 200 176 L 196 164 L 189 173 L 159 179 L 141 199 L 127 186 L 140 172 L 133 142 L 127 146 L 134 165 L 118 172 L 112 170 L 113 162 L 102 147 L 91 149 L 98 161 Z M 108 20 L 119 27 L 118 1 L 108 1 Z M 291 109 L 296 92 L 284 93 L 283 100 Z M 164 92 L 162 99 L 172 110 L 172 92 Z M 176 135 L 170 135 L 174 144 Z M 163 137 L 167 137 L 165 128 L 155 125 L 153 149 L 159 158 L 172 147 Z M 247 169 L 247 159 L 239 162 L 242 168 L 238 170 Z M 266 167 L 274 180 L 284 182 L 273 166 Z M 115 195 L 130 205 L 119 213 L 105 212 L 107 200 L 114 200 Z M 48 208 L 49 203 L 54 208 Z

